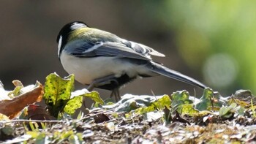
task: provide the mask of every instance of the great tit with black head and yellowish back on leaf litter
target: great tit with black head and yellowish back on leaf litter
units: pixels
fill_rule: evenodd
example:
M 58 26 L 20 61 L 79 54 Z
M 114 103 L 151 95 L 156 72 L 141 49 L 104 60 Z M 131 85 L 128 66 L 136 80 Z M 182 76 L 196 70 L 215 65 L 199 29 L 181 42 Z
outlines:
M 164 75 L 193 86 L 203 83 L 154 62 L 151 56 L 165 57 L 146 45 L 132 42 L 81 21 L 67 23 L 57 37 L 62 66 L 88 90 L 103 88 L 120 99 L 119 88 L 137 77 Z

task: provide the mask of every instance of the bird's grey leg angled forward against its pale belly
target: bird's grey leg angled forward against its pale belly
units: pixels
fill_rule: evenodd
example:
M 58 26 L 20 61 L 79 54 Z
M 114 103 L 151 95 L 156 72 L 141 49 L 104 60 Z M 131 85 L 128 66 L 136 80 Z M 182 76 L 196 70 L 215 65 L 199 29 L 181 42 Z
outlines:
M 87 87 L 87 90 L 92 91 L 94 88 L 97 88 L 99 86 L 110 84 L 113 80 L 115 80 L 115 75 L 108 75 L 106 77 L 98 78 L 91 82 L 91 84 Z

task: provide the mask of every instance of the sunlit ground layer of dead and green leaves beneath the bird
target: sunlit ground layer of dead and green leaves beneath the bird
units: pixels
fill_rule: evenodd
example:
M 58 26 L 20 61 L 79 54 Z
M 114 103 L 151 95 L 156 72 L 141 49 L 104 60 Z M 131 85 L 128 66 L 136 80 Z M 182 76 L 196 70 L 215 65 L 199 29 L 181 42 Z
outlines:
M 170 96 L 125 94 L 105 101 L 97 91 L 74 91 L 74 75 L 46 77 L 45 86 L 15 80 L 0 85 L 1 143 L 254 143 L 256 101 L 249 90 L 222 97 L 185 90 Z M 197 99 L 196 97 L 200 97 Z M 43 100 L 42 100 L 43 99 Z M 83 101 L 94 105 L 80 113 Z

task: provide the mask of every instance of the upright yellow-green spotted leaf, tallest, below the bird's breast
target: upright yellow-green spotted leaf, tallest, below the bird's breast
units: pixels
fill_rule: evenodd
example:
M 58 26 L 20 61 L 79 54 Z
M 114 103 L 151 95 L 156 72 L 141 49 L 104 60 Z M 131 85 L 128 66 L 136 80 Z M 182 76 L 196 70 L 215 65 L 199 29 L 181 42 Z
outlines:
M 56 73 L 46 77 L 44 99 L 50 106 L 50 114 L 57 117 L 59 112 L 64 110 L 64 106 L 70 99 L 74 85 L 74 75 L 61 78 Z

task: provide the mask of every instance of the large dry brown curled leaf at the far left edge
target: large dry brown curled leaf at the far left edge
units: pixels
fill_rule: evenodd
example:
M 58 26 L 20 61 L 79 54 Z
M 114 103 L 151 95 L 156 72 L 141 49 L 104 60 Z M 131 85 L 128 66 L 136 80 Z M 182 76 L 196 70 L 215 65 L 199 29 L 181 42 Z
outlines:
M 3 100 L 0 102 L 0 113 L 7 115 L 10 119 L 15 118 L 24 107 L 34 102 L 42 100 L 43 87 L 39 84 L 36 88 L 28 91 L 20 96 L 16 96 L 11 100 Z

